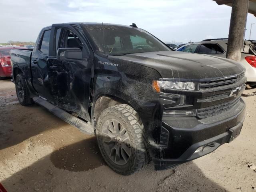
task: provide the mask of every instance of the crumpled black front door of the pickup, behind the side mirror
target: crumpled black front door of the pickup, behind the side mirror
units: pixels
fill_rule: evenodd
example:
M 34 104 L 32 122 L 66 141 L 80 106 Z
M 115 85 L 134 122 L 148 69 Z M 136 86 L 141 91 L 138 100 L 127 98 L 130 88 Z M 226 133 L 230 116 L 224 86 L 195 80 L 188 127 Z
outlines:
M 54 56 L 49 57 L 47 65 L 54 102 L 59 108 L 75 112 L 78 116 L 90 120 L 88 108 L 93 57 L 90 57 L 82 34 L 74 28 L 56 26 L 52 30 L 54 30 L 55 50 Z M 80 50 L 81 58 L 63 59 L 65 50 L 72 49 Z

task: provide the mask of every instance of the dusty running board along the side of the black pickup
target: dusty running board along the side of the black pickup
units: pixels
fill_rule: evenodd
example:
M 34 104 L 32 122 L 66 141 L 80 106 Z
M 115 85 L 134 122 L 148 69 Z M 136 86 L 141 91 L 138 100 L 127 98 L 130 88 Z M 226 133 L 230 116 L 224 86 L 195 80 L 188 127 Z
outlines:
M 78 128 L 82 133 L 88 135 L 94 135 L 94 128 L 91 124 L 69 114 L 68 112 L 54 106 L 53 104 L 49 103 L 48 101 L 40 98 L 40 97 L 33 97 L 34 102 L 37 104 L 45 107 L 54 115 L 58 116 L 62 120 L 66 121 L 68 124 Z

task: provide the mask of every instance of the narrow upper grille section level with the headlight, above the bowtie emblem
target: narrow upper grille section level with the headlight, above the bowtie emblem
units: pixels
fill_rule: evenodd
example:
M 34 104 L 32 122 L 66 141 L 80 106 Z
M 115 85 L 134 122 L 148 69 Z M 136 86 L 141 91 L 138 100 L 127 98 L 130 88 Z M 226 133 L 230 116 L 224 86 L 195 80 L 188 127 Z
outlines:
M 200 83 L 200 89 L 208 89 L 208 88 L 214 88 L 214 87 L 233 84 L 233 83 L 238 82 L 243 77 L 244 77 L 244 73 L 242 73 L 238 76 L 228 77 L 228 78 L 225 78 L 225 79 L 222 78 L 222 79 L 219 79 L 219 80 L 201 82 Z

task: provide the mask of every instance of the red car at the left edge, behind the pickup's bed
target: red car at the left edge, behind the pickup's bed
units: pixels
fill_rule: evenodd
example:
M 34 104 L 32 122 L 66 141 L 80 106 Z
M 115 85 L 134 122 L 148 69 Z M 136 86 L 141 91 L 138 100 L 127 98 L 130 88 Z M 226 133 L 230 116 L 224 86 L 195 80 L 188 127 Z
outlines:
M 11 49 L 26 49 L 25 47 L 0 47 L 0 79 L 2 77 L 10 77 L 12 74 L 10 50 Z

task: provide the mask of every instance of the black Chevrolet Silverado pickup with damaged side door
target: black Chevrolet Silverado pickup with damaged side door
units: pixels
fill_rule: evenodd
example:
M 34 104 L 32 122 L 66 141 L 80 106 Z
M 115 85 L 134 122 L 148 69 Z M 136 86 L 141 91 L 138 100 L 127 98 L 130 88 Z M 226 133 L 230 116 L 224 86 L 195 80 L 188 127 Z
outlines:
M 243 125 L 243 66 L 174 52 L 135 24 L 53 24 L 33 50 L 11 50 L 11 62 L 20 104 L 36 102 L 96 134 L 120 174 L 204 156 Z

